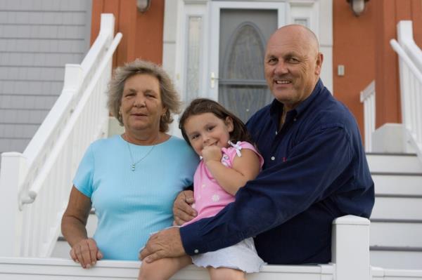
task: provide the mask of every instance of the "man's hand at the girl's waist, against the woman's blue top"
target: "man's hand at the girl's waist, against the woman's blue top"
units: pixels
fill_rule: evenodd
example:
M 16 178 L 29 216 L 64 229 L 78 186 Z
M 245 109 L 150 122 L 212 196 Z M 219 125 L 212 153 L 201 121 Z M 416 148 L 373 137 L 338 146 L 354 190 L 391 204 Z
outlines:
M 192 191 L 183 191 L 177 195 L 173 204 L 173 215 L 176 225 L 183 225 L 196 217 L 197 213 L 192 208 L 193 202 Z

